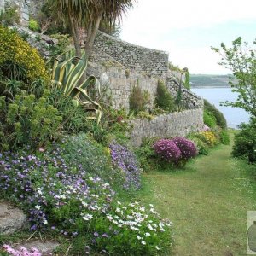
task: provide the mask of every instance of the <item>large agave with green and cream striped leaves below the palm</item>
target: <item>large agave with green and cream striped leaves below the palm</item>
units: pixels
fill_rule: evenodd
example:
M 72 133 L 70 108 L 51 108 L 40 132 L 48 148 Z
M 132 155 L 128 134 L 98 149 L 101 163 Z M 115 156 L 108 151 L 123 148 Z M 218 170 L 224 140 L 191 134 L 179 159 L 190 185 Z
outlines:
M 102 118 L 102 108 L 88 95 L 87 88 L 94 85 L 100 95 L 100 82 L 92 75 L 84 78 L 86 68 L 85 54 L 81 58 L 72 56 L 71 52 L 59 55 L 52 71 L 52 84 L 61 87 L 65 96 L 71 96 L 75 105 L 82 104 L 86 111 L 94 111 L 95 116 L 88 119 L 96 119 L 99 123 Z

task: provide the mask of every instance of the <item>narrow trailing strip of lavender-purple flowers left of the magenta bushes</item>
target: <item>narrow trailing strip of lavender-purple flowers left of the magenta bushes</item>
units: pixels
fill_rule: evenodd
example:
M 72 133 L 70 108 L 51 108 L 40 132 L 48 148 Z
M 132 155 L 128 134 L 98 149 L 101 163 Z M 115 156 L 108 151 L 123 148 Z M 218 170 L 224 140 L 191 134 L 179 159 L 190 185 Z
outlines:
M 137 165 L 137 160 L 134 154 L 126 148 L 117 143 L 109 145 L 110 154 L 114 166 L 118 166 L 125 174 L 125 189 L 139 189 L 140 188 L 140 169 Z

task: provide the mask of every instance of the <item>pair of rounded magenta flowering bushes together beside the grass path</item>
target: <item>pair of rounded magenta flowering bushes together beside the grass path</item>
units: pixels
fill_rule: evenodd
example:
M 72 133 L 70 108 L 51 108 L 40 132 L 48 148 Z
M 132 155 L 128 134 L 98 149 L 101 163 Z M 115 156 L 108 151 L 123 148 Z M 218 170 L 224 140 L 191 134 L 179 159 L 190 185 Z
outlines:
M 160 139 L 154 143 L 153 148 L 154 152 L 162 159 L 177 166 L 184 166 L 187 160 L 197 154 L 195 143 L 184 137 Z

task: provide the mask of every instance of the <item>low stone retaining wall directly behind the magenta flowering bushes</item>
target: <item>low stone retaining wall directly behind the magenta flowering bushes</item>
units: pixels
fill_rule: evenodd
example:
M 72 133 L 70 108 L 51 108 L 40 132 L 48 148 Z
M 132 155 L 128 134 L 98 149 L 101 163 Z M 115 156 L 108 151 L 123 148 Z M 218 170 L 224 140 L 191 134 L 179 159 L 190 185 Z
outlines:
M 203 109 L 163 114 L 152 120 L 134 119 L 130 125 L 131 145 L 139 147 L 143 137 L 184 137 L 190 132 L 202 131 Z

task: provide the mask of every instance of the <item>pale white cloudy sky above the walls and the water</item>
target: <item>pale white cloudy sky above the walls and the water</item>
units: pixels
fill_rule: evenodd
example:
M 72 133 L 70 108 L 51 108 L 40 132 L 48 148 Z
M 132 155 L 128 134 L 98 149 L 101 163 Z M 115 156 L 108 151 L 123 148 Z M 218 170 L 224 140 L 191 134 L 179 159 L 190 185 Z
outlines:
M 189 73 L 226 74 L 211 46 L 256 38 L 256 0 L 137 0 L 122 22 L 120 38 L 168 52 Z

